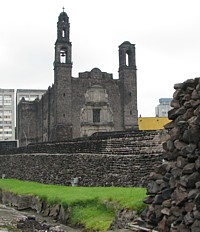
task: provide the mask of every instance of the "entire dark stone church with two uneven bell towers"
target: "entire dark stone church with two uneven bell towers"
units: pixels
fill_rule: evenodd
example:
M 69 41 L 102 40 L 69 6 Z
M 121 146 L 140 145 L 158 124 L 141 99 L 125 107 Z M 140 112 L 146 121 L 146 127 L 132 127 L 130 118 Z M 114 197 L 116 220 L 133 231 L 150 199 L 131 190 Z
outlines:
M 18 105 L 20 146 L 45 141 L 64 141 L 95 132 L 138 127 L 135 45 L 119 46 L 119 78 L 98 68 L 72 77 L 72 43 L 66 12 L 57 22 L 54 84 L 41 100 Z

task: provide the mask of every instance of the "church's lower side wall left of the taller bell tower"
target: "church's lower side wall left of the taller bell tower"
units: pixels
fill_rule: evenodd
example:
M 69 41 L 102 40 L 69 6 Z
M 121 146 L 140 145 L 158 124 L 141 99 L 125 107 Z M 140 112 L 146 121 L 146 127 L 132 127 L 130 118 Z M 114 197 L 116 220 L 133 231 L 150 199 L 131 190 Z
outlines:
M 49 87 L 39 101 L 20 101 L 18 105 L 18 138 L 19 146 L 29 143 L 49 141 L 50 128 L 53 127 L 54 86 Z M 23 129 L 20 129 L 23 128 Z

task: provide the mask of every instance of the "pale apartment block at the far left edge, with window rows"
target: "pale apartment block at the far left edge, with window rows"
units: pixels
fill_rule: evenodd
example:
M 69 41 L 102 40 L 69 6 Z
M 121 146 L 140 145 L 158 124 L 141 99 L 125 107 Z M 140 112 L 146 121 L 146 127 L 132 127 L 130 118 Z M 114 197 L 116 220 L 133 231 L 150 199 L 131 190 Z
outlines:
M 14 89 L 0 89 L 0 140 L 15 139 Z

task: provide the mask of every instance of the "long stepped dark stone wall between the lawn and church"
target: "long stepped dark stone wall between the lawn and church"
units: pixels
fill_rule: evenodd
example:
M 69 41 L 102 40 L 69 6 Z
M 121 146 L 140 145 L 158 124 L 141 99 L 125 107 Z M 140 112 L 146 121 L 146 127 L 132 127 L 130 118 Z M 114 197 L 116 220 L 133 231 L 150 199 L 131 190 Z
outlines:
M 146 186 L 161 153 L 158 132 L 99 135 L 1 154 L 0 175 L 63 185 L 78 180 L 80 186 Z

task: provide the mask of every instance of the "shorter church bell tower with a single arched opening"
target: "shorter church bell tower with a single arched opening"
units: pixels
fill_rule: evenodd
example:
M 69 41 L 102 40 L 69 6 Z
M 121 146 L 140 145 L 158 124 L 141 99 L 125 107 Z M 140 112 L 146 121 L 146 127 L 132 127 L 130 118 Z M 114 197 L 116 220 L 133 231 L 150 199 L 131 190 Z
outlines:
M 138 129 L 135 44 L 128 41 L 119 46 L 119 80 L 124 130 Z

